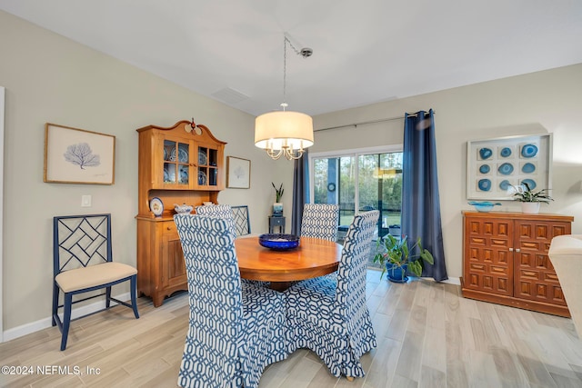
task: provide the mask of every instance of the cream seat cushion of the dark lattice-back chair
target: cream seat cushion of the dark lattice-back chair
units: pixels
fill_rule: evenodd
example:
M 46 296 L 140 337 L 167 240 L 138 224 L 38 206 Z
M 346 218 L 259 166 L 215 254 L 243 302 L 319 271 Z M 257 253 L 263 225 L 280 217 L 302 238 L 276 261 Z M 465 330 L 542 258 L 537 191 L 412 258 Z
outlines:
M 55 276 L 55 282 L 63 292 L 71 293 L 125 279 L 134 274 L 137 274 L 137 270 L 131 265 L 109 262 L 64 271 Z

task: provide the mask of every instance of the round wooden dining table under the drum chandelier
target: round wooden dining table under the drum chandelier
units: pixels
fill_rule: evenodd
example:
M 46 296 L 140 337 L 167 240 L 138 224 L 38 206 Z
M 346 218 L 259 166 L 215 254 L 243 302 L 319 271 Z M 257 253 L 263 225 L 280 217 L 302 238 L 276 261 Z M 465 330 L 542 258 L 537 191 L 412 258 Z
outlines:
M 271 282 L 278 291 L 293 281 L 333 273 L 343 249 L 341 244 L 314 237 L 301 237 L 299 246 L 289 251 L 265 248 L 258 237 L 237 238 L 235 247 L 240 277 Z

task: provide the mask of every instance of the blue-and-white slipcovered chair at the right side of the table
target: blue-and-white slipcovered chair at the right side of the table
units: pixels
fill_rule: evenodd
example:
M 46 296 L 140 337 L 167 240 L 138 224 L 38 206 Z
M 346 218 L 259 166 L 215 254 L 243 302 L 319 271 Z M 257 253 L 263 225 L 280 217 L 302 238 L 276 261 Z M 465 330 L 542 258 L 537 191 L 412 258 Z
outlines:
M 357 214 L 346 234 L 336 276 L 322 276 L 289 287 L 289 352 L 306 347 L 335 376 L 363 377 L 360 357 L 376 347 L 366 306 L 366 263 L 376 230 L 377 210 Z

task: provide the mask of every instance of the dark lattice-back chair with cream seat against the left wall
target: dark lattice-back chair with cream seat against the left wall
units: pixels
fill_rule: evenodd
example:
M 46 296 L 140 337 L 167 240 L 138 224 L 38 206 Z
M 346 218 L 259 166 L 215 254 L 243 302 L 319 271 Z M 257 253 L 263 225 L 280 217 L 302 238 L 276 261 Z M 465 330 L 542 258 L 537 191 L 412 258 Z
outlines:
M 53 326 L 62 333 L 61 350 L 65 350 L 75 303 L 105 295 L 105 309 L 111 301 L 123 304 L 139 318 L 135 298 L 137 270 L 113 262 L 111 244 L 111 214 L 67 215 L 53 218 Z M 111 296 L 111 286 L 130 282 L 131 304 Z M 73 296 L 95 290 L 95 294 L 73 301 Z M 63 304 L 60 303 L 63 292 Z M 63 319 L 58 311 L 63 308 Z

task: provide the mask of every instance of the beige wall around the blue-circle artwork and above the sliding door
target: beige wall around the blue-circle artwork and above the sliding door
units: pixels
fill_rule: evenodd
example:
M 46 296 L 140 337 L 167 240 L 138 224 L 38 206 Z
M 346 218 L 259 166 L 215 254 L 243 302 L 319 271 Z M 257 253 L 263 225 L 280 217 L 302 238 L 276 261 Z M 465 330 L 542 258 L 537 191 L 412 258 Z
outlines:
M 462 275 L 462 210 L 467 204 L 467 141 L 515 134 L 553 133 L 556 201 L 542 212 L 574 215 L 582 234 L 582 65 L 372 104 L 314 118 L 316 128 L 436 111 L 437 163 L 447 271 Z M 390 95 L 386 91 L 386 95 Z M 402 144 L 404 121 L 316 132 L 310 152 Z M 517 210 L 504 202 L 501 209 Z

